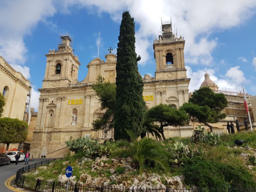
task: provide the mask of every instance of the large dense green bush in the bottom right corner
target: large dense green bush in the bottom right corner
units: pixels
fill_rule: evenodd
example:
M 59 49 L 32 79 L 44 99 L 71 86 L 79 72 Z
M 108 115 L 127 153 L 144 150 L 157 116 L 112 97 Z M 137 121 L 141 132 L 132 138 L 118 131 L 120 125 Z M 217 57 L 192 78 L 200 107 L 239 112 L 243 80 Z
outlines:
M 202 189 L 252 189 L 256 187 L 253 176 L 240 165 L 229 165 L 218 161 L 195 157 L 182 170 L 185 183 Z

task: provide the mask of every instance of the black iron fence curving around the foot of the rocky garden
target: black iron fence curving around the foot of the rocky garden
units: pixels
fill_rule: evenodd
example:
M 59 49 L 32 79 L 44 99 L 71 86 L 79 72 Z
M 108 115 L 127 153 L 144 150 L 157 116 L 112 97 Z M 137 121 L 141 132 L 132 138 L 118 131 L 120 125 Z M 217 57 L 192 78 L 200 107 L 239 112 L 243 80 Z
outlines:
M 159 188 L 157 186 L 145 187 L 129 187 L 121 185 L 86 185 L 78 183 L 61 183 L 55 180 L 42 180 L 39 178 L 29 177 L 23 175 L 25 172 L 35 170 L 41 165 L 49 164 L 56 159 L 44 160 L 31 164 L 19 169 L 16 173 L 15 184 L 22 188 L 27 188 L 35 192 L 256 192 L 256 189 L 200 189 L 194 188 Z

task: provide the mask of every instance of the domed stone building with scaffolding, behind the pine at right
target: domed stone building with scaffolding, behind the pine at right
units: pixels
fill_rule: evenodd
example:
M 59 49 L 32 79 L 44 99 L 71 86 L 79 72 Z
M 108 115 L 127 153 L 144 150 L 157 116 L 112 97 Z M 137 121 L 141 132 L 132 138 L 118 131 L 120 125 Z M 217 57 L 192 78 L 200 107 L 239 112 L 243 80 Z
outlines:
M 217 84 L 214 81 L 212 81 L 210 79 L 210 75 L 207 72 L 206 72 L 206 74 L 204 74 L 204 81 L 202 82 L 200 88 L 201 87 L 209 87 L 215 93 L 223 93 L 225 95 L 226 99 L 228 100 L 228 106 L 225 109 L 223 109 L 223 112 L 226 113 L 227 116 L 224 120 L 220 120 L 218 123 L 211 124 L 213 126 L 213 132 L 219 133 L 219 134 L 228 133 L 228 130 L 226 128 L 227 122 L 232 121 L 233 124 L 235 124 L 234 123 L 235 120 L 238 120 L 238 122 L 240 124 L 240 130 L 244 131 L 245 130 L 244 120 L 246 119 L 247 122 L 249 122 L 249 120 L 248 120 L 248 114 L 247 114 L 245 106 L 244 106 L 243 92 L 229 92 L 229 91 L 219 90 L 219 87 L 217 86 Z M 248 104 L 248 109 L 249 109 L 251 120 L 252 120 L 252 122 L 255 122 L 255 120 L 253 118 L 253 110 L 252 110 L 253 107 L 251 105 L 252 95 L 246 94 L 246 97 L 247 97 L 247 104 Z M 198 125 L 199 125 L 199 123 L 193 123 L 194 127 L 197 127 Z M 201 124 L 201 126 L 206 127 L 203 124 Z M 248 127 L 250 130 L 249 123 L 248 123 Z M 253 130 L 255 129 L 255 127 L 256 127 L 256 124 L 255 124 L 255 126 L 253 126 Z M 206 128 L 208 128 L 208 127 L 206 127 Z M 235 128 L 235 131 L 237 131 L 236 128 Z

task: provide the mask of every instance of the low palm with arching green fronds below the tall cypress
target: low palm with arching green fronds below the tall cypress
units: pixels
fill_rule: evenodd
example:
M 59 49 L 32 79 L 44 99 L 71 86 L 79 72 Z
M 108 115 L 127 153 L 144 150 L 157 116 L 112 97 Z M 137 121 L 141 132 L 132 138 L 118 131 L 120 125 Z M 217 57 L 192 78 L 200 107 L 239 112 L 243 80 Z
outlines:
M 132 131 L 126 130 L 126 133 L 130 137 L 130 141 L 117 140 L 118 148 L 113 155 L 127 155 L 132 158 L 135 168 L 139 169 L 140 174 L 142 174 L 146 162 L 158 165 L 165 171 L 169 170 L 169 153 L 160 142 L 148 137 L 137 140 Z

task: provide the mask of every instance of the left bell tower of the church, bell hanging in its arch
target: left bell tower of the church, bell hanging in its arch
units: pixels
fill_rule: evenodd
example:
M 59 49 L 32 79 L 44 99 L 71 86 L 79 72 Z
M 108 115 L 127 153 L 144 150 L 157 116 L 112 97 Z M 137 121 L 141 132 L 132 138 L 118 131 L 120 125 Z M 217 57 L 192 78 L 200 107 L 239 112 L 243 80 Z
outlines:
M 65 87 L 77 80 L 80 62 L 73 53 L 70 34 L 60 35 L 58 49 L 46 54 L 46 70 L 42 88 Z

